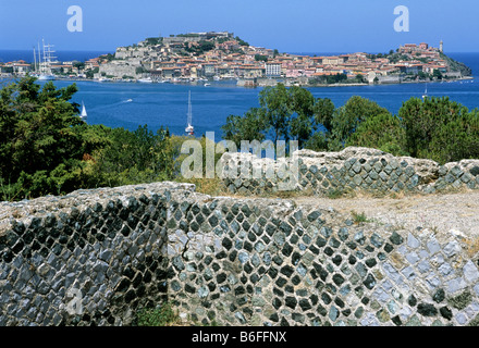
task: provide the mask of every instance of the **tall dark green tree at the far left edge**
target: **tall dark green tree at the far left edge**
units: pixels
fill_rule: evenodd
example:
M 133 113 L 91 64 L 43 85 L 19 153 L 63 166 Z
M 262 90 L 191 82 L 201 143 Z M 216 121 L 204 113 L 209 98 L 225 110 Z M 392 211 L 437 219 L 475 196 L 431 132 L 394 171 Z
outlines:
M 56 89 L 25 77 L 0 91 L 0 176 L 20 183 L 16 197 L 61 192 L 82 181 L 85 141 L 78 104 L 69 100 L 76 85 Z

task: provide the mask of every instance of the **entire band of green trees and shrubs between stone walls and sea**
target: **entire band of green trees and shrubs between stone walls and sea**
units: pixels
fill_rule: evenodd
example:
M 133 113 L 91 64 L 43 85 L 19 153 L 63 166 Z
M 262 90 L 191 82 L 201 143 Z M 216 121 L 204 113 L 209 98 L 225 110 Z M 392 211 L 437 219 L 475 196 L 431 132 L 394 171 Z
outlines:
M 76 85 L 42 88 L 25 77 L 0 90 L 0 200 L 62 195 L 78 188 L 150 183 L 180 177 L 182 144 L 189 137 L 88 125 L 71 102 Z M 230 115 L 223 137 L 242 140 L 296 139 L 300 148 L 381 149 L 443 164 L 479 158 L 479 111 L 449 98 L 412 98 L 392 115 L 376 102 L 352 97 L 343 107 L 314 98 L 302 87 L 279 84 L 259 94 L 259 108 Z M 204 149 L 211 146 L 197 139 Z M 214 163 L 221 157 L 217 148 Z M 218 182 L 205 184 L 213 190 Z

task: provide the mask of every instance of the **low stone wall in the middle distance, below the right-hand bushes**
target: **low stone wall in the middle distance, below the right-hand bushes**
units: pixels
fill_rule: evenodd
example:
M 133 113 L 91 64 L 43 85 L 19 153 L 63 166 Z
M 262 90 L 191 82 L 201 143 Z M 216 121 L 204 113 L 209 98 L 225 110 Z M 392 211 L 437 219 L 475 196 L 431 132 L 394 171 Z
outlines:
M 463 160 L 445 165 L 430 160 L 393 157 L 368 148 L 349 147 L 341 152 L 299 150 L 295 157 L 258 159 L 250 153 L 225 153 L 222 157 L 224 186 L 234 194 L 250 195 L 281 190 L 281 183 L 294 177 L 293 190 L 309 190 L 317 196 L 361 189 L 373 192 L 433 194 L 447 189 L 479 188 L 479 160 Z M 273 167 L 282 175 L 255 175 L 256 169 Z M 295 162 L 296 161 L 296 162 Z M 296 165 L 296 166 L 295 166 Z M 284 178 L 283 178 L 284 176 Z

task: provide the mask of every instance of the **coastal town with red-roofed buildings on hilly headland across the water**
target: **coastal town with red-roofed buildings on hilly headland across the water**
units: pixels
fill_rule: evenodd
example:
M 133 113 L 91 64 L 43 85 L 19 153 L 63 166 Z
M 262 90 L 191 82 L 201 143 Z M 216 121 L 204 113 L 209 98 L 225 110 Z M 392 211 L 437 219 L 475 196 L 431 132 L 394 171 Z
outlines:
M 41 49 L 40 49 L 41 51 Z M 45 49 L 44 49 L 45 53 Z M 34 52 L 35 54 L 35 52 Z M 208 32 L 147 38 L 119 47 L 85 62 L 0 62 L 2 76 L 40 76 L 49 79 L 94 79 L 98 82 L 193 83 L 233 79 L 238 86 L 330 86 L 400 84 L 468 78 L 470 69 L 429 44 L 406 44 L 386 53 L 355 52 L 339 55 L 280 53 L 255 47 L 234 33 Z M 45 54 L 44 54 L 45 57 Z M 54 77 L 53 77 L 54 76 Z

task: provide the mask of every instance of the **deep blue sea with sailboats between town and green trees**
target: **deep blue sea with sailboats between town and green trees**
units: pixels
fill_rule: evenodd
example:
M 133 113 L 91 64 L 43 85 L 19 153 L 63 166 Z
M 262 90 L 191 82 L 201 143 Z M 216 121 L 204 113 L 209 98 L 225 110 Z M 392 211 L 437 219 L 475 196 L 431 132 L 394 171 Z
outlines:
M 1 53 L 4 51 L 0 51 Z M 97 57 L 98 52 L 71 52 L 70 60 Z M 96 55 L 95 55 L 96 54 Z M 310 53 L 312 55 L 312 53 Z M 326 54 L 326 53 L 317 53 Z M 475 79 L 452 83 L 429 83 L 429 96 L 449 96 L 469 110 L 479 108 L 479 53 L 447 53 L 472 69 Z M 66 57 L 66 55 L 64 55 Z M 17 58 L 14 58 L 17 59 Z M 0 59 L 1 60 L 1 59 Z M 10 58 L 12 60 L 12 58 Z M 28 59 L 26 59 L 28 60 Z M 42 84 L 42 83 L 40 83 Z M 72 84 L 56 80 L 64 87 Z M 85 103 L 89 124 L 136 129 L 148 125 L 153 132 L 168 127 L 172 134 L 184 135 L 188 110 L 188 91 L 192 91 L 193 124 L 197 136 L 214 132 L 221 139 L 221 126 L 230 114 L 242 115 L 249 108 L 258 107 L 261 88 L 237 87 L 235 80 L 211 82 L 211 86 L 187 84 L 137 84 L 76 82 L 78 92 L 75 102 Z M 412 97 L 420 98 L 425 84 L 401 84 L 351 87 L 308 88 L 316 98 L 330 98 L 335 107 L 343 105 L 351 97 L 360 96 L 376 101 L 397 114 L 403 102 Z

